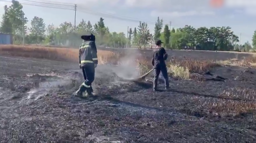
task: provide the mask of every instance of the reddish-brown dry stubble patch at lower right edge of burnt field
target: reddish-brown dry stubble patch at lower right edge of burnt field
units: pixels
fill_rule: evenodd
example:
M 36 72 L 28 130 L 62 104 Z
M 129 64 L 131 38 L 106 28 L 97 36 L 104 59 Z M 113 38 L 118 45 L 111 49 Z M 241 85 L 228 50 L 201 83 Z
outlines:
M 256 90 L 248 88 L 230 88 L 218 95 L 218 100 L 198 101 L 201 108 L 217 112 L 224 116 L 239 116 L 256 111 Z

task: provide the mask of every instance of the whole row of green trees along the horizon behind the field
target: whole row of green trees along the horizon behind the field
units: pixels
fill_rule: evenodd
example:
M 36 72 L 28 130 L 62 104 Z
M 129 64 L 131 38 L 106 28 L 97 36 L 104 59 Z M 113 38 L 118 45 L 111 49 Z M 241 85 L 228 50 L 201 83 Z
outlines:
M 95 34 L 96 44 L 107 47 L 125 48 L 153 46 L 154 41 L 161 39 L 168 49 L 198 49 L 198 50 L 244 50 L 249 51 L 256 46 L 256 31 L 249 42 L 239 45 L 239 38 L 230 27 L 200 27 L 186 25 L 183 28 L 170 29 L 163 25 L 159 17 L 155 23 L 154 35 L 150 33 L 148 24 L 140 22 L 138 27 L 130 28 L 128 39 L 123 32 L 110 32 L 100 18 L 94 25 L 90 21 L 82 20 L 76 27 L 71 22 L 63 22 L 58 27 L 51 24 L 46 27 L 43 18 L 35 16 L 27 28 L 27 18 L 23 13 L 23 6 L 19 1 L 12 0 L 11 6 L 4 6 L 0 32 L 13 34 L 15 44 L 21 44 L 23 35 L 25 43 L 48 44 L 62 46 L 79 46 L 82 34 Z M 163 30 L 163 32 L 162 32 Z

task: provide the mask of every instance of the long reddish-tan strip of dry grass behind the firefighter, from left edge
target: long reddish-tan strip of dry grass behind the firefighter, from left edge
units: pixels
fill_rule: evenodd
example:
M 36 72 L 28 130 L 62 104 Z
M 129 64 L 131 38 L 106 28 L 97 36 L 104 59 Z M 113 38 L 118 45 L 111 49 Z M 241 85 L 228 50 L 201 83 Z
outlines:
M 78 62 L 78 49 L 72 48 L 52 48 L 44 46 L 18 46 L 0 45 L 1 55 L 31 57 L 40 59 L 59 60 L 67 62 Z M 119 54 L 111 51 L 98 50 L 99 64 L 116 63 Z

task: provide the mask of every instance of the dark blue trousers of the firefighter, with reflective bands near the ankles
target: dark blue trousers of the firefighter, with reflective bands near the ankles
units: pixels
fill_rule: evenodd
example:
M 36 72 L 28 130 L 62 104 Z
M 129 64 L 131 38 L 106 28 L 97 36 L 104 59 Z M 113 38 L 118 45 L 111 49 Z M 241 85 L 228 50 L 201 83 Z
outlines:
M 95 76 L 94 64 L 92 63 L 85 64 L 82 67 L 82 70 L 83 70 L 83 77 L 85 79 L 85 81 L 82 83 L 82 86 L 85 87 L 86 91 L 93 92 L 92 82 L 94 81 L 94 76 Z

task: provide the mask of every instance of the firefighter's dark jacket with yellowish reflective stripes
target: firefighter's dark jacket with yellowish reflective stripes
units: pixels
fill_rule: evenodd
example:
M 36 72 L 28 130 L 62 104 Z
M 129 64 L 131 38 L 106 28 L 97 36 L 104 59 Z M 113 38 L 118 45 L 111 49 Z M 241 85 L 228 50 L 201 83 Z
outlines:
M 79 48 L 79 65 L 84 66 L 88 63 L 98 64 L 95 41 L 85 41 Z

